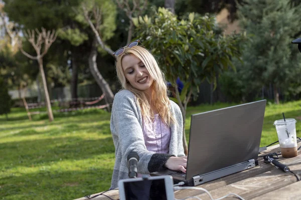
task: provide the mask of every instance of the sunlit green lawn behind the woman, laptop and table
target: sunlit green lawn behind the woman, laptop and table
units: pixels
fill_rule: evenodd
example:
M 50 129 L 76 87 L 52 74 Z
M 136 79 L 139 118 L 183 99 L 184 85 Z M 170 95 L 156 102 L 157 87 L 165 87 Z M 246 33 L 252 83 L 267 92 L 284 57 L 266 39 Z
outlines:
M 188 107 L 187 139 L 192 113 L 229 105 Z M 282 112 L 297 119 L 301 136 L 301 101 L 268 104 L 261 146 L 277 140 L 273 121 Z M 22 108 L 14 108 L 8 121 L 0 116 L 0 199 L 74 199 L 109 188 L 114 165 L 110 113 L 90 109 L 54 117 L 51 123 L 46 114 L 29 121 Z

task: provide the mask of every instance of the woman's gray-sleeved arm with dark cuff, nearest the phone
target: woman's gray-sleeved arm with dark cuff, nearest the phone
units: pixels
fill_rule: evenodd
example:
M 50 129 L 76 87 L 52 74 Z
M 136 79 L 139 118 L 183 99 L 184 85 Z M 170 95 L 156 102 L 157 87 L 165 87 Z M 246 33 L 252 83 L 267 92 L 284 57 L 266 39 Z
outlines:
M 154 153 L 146 149 L 139 121 L 141 116 L 134 100 L 131 92 L 124 91 L 118 92 L 113 102 L 111 125 L 114 127 L 113 134 L 118 136 L 123 159 L 121 163 L 127 163 L 124 159 L 130 152 L 135 151 L 139 155 L 137 163 L 139 173 L 157 171 L 164 167 L 171 155 Z

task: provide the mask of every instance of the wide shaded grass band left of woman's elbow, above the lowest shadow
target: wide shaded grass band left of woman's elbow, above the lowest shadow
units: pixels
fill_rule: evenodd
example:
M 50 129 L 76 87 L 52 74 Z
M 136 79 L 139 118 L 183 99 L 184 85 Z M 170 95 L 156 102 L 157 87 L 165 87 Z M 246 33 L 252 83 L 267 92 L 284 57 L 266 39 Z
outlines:
M 94 155 L 114 153 L 112 137 L 84 139 L 68 136 L 55 139 L 35 139 L 2 143 L 0 166 L 3 169 L 17 166 L 47 165 L 58 160 L 80 160 Z

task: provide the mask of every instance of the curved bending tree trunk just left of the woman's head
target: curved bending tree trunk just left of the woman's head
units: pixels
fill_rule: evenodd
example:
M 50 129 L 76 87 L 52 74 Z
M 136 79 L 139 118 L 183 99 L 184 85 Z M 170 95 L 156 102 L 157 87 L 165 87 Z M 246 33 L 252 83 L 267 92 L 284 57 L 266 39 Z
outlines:
M 107 98 L 108 103 L 113 102 L 114 99 L 114 94 L 107 83 L 107 81 L 102 77 L 101 73 L 99 72 L 97 68 L 97 63 L 96 63 L 96 58 L 97 58 L 97 40 L 94 38 L 92 47 L 91 47 L 91 52 L 89 55 L 89 67 L 90 71 L 96 80 L 98 86 L 102 90 L 102 92 L 105 94 L 105 97 Z

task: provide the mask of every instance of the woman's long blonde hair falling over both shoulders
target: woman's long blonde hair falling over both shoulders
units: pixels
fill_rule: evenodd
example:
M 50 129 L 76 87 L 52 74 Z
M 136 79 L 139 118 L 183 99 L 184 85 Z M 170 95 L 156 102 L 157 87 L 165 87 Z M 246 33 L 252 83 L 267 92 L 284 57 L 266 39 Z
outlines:
M 150 104 L 146 98 L 145 93 L 142 90 L 134 88 L 126 78 L 122 69 L 122 58 L 125 55 L 133 54 L 139 58 L 149 75 L 153 78 L 152 87 L 152 105 L 157 109 L 162 120 L 170 125 L 171 123 L 177 123 L 174 116 L 171 114 L 171 103 L 167 95 L 167 82 L 163 71 L 160 69 L 155 57 L 146 48 L 142 46 L 127 47 L 124 52 L 116 58 L 116 72 L 117 77 L 124 89 L 127 89 L 134 93 L 138 106 L 141 109 L 141 114 L 144 120 L 150 122 L 154 118 L 154 113 L 150 111 Z

